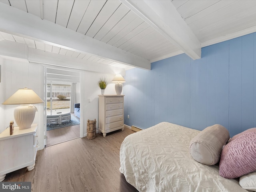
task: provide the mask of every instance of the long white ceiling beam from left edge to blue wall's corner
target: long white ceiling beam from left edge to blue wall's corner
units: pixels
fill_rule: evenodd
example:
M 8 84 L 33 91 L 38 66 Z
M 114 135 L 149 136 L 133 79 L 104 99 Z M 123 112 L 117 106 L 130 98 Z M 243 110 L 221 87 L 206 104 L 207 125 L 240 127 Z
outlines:
M 0 31 L 150 70 L 149 60 L 12 6 L 0 6 Z

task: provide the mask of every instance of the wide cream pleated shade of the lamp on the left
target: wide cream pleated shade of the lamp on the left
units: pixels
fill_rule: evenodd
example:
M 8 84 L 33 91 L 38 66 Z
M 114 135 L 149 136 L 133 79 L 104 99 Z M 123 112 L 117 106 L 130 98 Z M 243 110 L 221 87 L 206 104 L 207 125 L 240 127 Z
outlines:
M 28 88 L 19 89 L 12 96 L 10 96 L 4 105 L 14 105 L 14 104 L 34 104 L 43 103 L 44 101 L 32 90 Z

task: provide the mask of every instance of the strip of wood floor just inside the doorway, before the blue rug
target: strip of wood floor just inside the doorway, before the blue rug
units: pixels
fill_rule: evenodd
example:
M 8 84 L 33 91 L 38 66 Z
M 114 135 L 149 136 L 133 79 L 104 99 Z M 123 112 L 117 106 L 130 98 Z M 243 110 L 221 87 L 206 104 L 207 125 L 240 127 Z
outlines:
M 52 146 L 61 142 L 65 142 L 80 137 L 80 125 L 73 125 L 46 132 L 46 146 Z

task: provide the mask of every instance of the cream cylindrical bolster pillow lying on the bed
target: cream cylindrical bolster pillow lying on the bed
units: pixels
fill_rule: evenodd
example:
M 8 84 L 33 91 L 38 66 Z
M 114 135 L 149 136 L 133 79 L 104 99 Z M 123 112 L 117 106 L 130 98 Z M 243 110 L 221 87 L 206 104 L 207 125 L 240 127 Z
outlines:
M 229 138 L 229 132 L 224 126 L 209 126 L 190 141 L 190 155 L 197 162 L 214 165 L 219 162 L 222 147 Z

